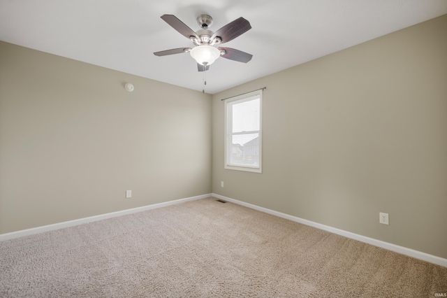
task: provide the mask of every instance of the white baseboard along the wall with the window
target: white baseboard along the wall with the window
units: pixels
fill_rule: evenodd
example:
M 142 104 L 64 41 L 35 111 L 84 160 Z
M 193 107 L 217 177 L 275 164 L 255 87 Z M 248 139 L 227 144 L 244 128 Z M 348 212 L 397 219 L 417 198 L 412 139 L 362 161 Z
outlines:
M 312 222 L 310 220 L 297 218 L 296 216 L 293 216 L 293 215 L 288 215 L 286 213 L 281 213 L 281 212 L 278 212 L 278 211 L 270 210 L 268 208 L 263 208 L 263 207 L 256 206 L 256 205 L 253 205 L 253 204 L 245 203 L 244 201 L 238 201 L 236 199 L 231 199 L 229 197 L 224 197 L 224 196 L 221 196 L 220 194 L 212 194 L 212 197 L 215 197 L 217 199 L 222 199 L 224 201 L 230 201 L 232 203 L 239 204 L 239 205 L 242 205 L 242 206 L 245 206 L 245 207 L 248 207 L 248 208 L 252 208 L 252 209 L 255 209 L 257 211 L 261 211 L 261 212 L 264 212 L 264 213 L 275 215 L 275 216 L 278 216 L 279 218 L 285 218 L 286 220 L 292 220 L 294 222 L 299 222 L 299 223 L 301 223 L 303 225 L 309 225 L 311 227 L 316 227 L 317 229 L 323 229 L 325 231 L 328 231 L 328 232 L 331 232 L 331 233 L 334 233 L 334 234 L 338 234 L 338 235 L 341 235 L 341 236 L 345 236 L 347 238 L 354 239 L 354 240 L 357 240 L 357 241 L 360 241 L 360 242 L 368 243 L 368 244 L 371 244 L 373 246 L 378 246 L 380 248 L 385 248 L 387 250 L 392 250 L 395 253 L 401 253 L 402 255 L 408 255 L 409 257 L 414 257 L 416 259 L 423 260 L 425 262 L 430 262 L 430 263 L 437 264 L 437 265 L 442 266 L 442 267 L 447 267 L 447 259 L 444 259 L 442 257 L 437 257 L 436 255 L 429 255 L 427 253 L 423 253 L 423 252 L 420 252 L 418 250 L 413 250 L 411 248 L 405 248 L 403 246 L 397 246 L 397 245 L 395 245 L 393 243 L 388 243 L 388 242 L 385 242 L 385 241 L 372 239 L 372 238 L 369 238 L 367 236 L 354 234 L 354 233 L 351 233 L 351 232 L 344 231 L 342 229 L 337 229 L 335 227 L 330 227 L 328 225 L 321 225 L 318 222 Z

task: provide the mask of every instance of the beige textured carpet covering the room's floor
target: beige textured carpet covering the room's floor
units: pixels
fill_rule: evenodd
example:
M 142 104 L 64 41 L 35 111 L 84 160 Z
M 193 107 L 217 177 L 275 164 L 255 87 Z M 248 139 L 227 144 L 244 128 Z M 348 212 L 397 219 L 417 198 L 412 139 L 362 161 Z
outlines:
M 435 297 L 447 268 L 216 199 L 0 242 L 0 297 Z

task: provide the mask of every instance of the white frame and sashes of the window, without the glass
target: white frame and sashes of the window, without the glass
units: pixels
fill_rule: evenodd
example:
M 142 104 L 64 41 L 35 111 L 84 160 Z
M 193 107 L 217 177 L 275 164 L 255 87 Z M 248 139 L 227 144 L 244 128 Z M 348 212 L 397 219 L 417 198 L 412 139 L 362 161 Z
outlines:
M 233 115 L 231 113 L 232 109 L 230 108 L 233 106 L 233 104 L 240 104 L 244 101 L 251 101 L 255 98 L 259 98 L 259 130 L 252 131 L 252 132 L 238 132 L 233 133 L 232 125 L 233 125 Z M 224 148 L 223 148 L 223 155 L 224 155 L 224 169 L 230 169 L 230 170 L 236 170 L 236 171 L 249 171 L 254 173 L 262 173 L 262 108 L 263 107 L 263 90 L 256 90 L 253 92 L 249 92 L 247 94 L 238 95 L 237 97 L 231 97 L 230 99 L 225 100 L 225 141 L 224 141 Z M 251 133 L 258 133 L 258 139 L 259 139 L 259 165 L 258 166 L 250 166 L 250 165 L 240 165 L 240 164 L 230 164 L 230 155 L 232 154 L 232 140 L 233 135 L 237 134 L 251 134 Z

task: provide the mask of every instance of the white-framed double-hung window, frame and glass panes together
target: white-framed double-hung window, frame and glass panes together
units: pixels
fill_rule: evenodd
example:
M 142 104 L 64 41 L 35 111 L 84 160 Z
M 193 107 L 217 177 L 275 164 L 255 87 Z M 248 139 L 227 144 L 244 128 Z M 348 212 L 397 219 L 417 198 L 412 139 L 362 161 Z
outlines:
M 227 99 L 225 169 L 261 173 L 262 90 Z

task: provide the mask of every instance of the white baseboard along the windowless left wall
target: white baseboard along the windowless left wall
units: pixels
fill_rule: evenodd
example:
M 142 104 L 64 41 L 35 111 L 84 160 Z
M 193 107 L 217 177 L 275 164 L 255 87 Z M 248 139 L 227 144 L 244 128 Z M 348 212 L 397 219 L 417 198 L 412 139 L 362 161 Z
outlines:
M 95 215 L 95 216 L 91 216 L 89 218 L 80 218 L 78 220 L 70 220 L 68 222 L 59 222 L 59 223 L 56 223 L 53 225 L 44 225 L 42 227 L 34 227 L 32 229 L 22 229 L 17 232 L 0 234 L 0 241 L 8 240 L 8 239 L 15 239 L 15 238 L 29 236 L 29 235 L 33 235 L 33 234 L 39 234 L 39 233 L 43 233 L 43 232 L 47 232 L 47 231 L 53 231 L 55 229 L 62 229 L 64 227 L 73 227 L 75 225 L 82 225 L 87 222 L 96 222 L 98 220 L 105 220 L 107 218 L 116 218 L 117 216 L 121 216 L 121 215 L 127 215 L 127 214 L 131 214 L 131 213 L 137 213 L 137 212 L 141 212 L 141 211 L 147 211 L 147 210 L 151 210 L 151 209 L 166 207 L 166 206 L 170 206 L 170 205 L 184 203 L 185 201 L 194 201 L 196 199 L 205 199 L 207 197 L 212 197 L 212 194 L 202 194 L 202 195 L 196 196 L 196 197 L 176 199 L 174 201 L 166 201 L 166 202 L 159 203 L 159 204 L 152 204 L 152 205 L 142 206 L 142 207 L 138 207 L 138 208 L 131 208 L 131 209 L 116 211 L 116 212 L 112 212 L 112 213 Z

